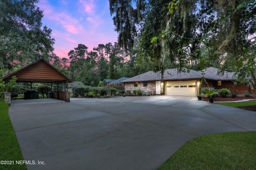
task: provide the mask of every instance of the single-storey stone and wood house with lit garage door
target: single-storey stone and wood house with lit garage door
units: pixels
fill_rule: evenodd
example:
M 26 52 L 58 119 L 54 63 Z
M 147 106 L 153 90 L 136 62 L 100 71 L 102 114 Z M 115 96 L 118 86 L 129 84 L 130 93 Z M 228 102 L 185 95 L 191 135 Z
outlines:
M 177 69 L 167 69 L 164 70 L 163 79 L 161 79 L 161 72 L 148 71 L 122 82 L 125 91 L 141 89 L 145 92 L 153 92 L 154 95 L 196 96 L 201 83 L 200 80 L 204 77 L 206 82 L 202 84 L 202 87 L 227 88 L 237 90 L 238 94 L 243 94 L 246 90 L 251 93 L 255 92 L 247 84 L 235 85 L 233 72 L 218 73 L 219 70 L 214 67 L 201 71 L 185 69 L 185 72 L 178 72 Z

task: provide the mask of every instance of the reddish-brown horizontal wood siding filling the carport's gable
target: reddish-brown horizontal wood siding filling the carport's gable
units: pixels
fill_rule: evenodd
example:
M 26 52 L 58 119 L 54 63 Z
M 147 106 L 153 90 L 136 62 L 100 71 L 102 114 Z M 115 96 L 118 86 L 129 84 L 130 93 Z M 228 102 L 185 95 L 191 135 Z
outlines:
M 52 66 L 44 61 L 26 67 L 23 70 L 14 73 L 17 82 L 60 82 L 67 81 L 67 78 L 55 70 Z M 13 75 L 12 75 L 13 76 Z

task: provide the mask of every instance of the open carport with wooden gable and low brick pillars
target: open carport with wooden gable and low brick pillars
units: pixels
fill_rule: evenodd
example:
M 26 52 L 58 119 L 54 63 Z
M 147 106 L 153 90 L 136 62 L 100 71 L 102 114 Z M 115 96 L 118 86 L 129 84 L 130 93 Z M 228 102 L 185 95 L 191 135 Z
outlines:
M 32 83 L 51 83 L 51 90 L 52 84 L 57 84 L 57 90 L 52 91 L 53 95 L 52 98 L 65 100 L 67 102 L 70 101 L 70 95 L 68 92 L 68 83 L 73 82 L 69 79 L 66 75 L 61 73 L 58 69 L 52 66 L 50 63 L 45 61 L 43 58 L 31 63 L 25 67 L 22 67 L 20 70 L 15 71 L 9 75 L 3 77 L 5 83 L 12 79 L 15 76 L 17 78 L 16 82 L 26 82 L 30 83 L 30 88 L 32 89 Z M 59 90 L 59 84 L 66 84 L 65 91 Z M 11 99 L 11 93 L 5 93 L 5 100 L 7 103 Z

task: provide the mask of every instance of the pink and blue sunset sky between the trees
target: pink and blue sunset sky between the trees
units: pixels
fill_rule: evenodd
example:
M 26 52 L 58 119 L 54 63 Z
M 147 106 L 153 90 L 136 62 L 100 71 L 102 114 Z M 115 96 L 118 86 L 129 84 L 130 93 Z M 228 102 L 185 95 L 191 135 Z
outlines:
M 117 40 L 108 0 L 39 0 L 37 5 L 44 11 L 43 25 L 52 29 L 54 53 L 61 58 L 78 44 L 92 50 Z

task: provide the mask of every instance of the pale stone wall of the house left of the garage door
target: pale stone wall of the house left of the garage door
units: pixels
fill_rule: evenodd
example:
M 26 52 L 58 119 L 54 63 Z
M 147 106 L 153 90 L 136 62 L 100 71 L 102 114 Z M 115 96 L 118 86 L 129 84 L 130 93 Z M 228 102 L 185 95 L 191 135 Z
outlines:
M 143 92 L 153 92 L 153 95 L 156 94 L 156 82 L 148 81 L 148 86 L 143 87 L 143 82 L 138 82 L 138 87 L 134 87 L 134 82 L 124 83 L 124 91 L 133 90 L 133 89 L 141 89 Z

